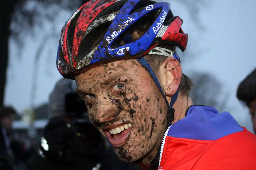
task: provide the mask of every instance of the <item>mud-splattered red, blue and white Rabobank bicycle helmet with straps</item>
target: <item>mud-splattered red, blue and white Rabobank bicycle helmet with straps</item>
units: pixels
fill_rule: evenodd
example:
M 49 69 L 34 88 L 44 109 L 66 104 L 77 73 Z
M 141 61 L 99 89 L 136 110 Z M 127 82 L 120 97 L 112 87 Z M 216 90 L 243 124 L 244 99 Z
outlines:
M 166 2 L 91 0 L 82 5 L 61 30 L 57 69 L 63 77 L 74 79 L 75 75 L 102 64 L 136 58 L 148 69 L 166 100 L 144 56 L 159 54 L 174 57 L 180 62 L 179 56 L 173 51 L 156 46 L 172 44 L 184 51 L 188 35 L 180 28 L 182 23 L 178 16 L 173 16 L 170 4 Z M 143 25 L 148 25 L 147 31 L 133 40 L 130 33 Z M 103 32 L 105 28 L 106 32 Z M 104 37 L 94 48 L 101 34 Z M 178 91 L 172 96 L 170 107 L 177 95 Z

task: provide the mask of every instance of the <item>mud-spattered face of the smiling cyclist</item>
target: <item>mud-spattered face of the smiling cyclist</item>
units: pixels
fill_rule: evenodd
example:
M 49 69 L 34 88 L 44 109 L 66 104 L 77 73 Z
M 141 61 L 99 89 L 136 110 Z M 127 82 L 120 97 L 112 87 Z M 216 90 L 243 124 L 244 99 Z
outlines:
M 77 92 L 86 101 L 90 120 L 124 161 L 147 155 L 166 128 L 165 100 L 139 65 L 115 61 L 76 76 Z

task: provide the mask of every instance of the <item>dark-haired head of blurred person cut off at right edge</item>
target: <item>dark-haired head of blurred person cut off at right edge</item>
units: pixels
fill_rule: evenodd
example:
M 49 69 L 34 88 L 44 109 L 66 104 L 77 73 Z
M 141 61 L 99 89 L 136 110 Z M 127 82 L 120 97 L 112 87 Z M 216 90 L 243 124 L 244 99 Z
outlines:
M 239 84 L 237 98 L 249 108 L 256 134 L 256 68 Z

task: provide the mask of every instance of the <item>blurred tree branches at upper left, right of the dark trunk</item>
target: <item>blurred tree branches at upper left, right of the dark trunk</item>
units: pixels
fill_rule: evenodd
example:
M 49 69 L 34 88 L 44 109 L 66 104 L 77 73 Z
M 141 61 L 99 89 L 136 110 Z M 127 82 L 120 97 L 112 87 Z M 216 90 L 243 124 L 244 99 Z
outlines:
M 12 15 L 13 25 L 10 27 L 11 34 L 18 46 L 23 45 L 24 36 L 33 35 L 34 26 L 42 27 L 45 21 L 54 24 L 56 16 L 61 10 L 74 11 L 81 1 L 69 0 L 17 0 Z M 24 31 L 29 30 L 29 31 Z M 55 31 L 52 34 L 56 34 Z M 54 36 L 54 35 L 53 35 Z

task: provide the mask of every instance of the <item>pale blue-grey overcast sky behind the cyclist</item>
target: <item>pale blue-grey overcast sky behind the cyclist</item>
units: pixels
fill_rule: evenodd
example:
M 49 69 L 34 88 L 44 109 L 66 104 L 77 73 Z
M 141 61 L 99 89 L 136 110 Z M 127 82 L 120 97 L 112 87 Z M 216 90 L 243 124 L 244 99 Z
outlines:
M 236 89 L 239 82 L 256 67 L 256 1 L 214 0 L 209 3 L 207 7 L 201 8 L 199 14 L 200 22 L 204 26 L 203 31 L 198 30 L 191 21 L 185 6 L 171 2 L 174 15 L 184 20 L 183 31 L 189 34 L 187 51 L 194 55 L 191 59 L 182 59 L 185 61 L 182 65 L 183 72 L 188 75 L 192 71 L 209 72 L 217 77 L 223 84 L 223 91 L 231 94 L 225 110 L 229 111 L 240 125 L 252 132 L 248 110 L 237 100 Z M 67 11 L 60 12 L 54 29 L 60 32 L 70 15 Z M 19 112 L 30 107 L 34 58 L 42 38 L 51 30 L 52 24 L 47 21 L 42 28 L 35 28 L 35 36 L 24 39 L 22 51 L 18 51 L 14 40 L 9 41 L 10 60 L 5 104 L 12 104 Z M 61 78 L 56 69 L 57 47 L 58 37 L 50 37 L 40 55 L 34 100 L 36 106 L 48 102 L 50 91 Z M 220 101 L 222 99 L 220 96 Z

